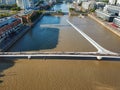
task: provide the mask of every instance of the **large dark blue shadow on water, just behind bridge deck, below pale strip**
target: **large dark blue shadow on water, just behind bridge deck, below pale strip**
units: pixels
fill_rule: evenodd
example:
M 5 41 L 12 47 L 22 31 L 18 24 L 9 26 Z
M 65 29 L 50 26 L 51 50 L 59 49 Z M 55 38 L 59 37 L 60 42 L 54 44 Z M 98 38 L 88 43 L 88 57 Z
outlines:
M 10 50 L 12 52 L 53 49 L 58 44 L 59 29 L 40 28 L 29 31 Z

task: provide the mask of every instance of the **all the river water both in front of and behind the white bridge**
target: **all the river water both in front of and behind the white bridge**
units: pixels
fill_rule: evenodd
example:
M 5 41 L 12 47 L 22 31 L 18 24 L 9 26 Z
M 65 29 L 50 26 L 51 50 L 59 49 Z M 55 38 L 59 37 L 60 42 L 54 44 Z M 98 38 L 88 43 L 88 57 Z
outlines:
M 68 16 L 44 17 L 43 21 L 67 24 L 66 19 Z M 69 20 L 100 45 L 120 51 L 120 39 L 95 21 L 88 17 Z M 45 28 L 41 24 L 9 51 L 97 51 L 71 26 Z M 107 60 L 0 58 L 0 90 L 120 90 L 120 62 Z

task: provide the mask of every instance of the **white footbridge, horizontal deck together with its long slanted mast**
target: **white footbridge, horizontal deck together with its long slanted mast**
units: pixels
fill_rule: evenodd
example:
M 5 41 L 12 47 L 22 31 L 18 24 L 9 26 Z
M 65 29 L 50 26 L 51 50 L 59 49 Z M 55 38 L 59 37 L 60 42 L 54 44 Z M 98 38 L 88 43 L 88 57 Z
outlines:
M 67 20 L 68 25 L 72 26 L 76 31 L 78 31 L 86 40 L 88 40 L 98 51 L 97 52 L 0 52 L 0 57 L 19 57 L 19 58 L 117 58 L 120 60 L 120 54 L 111 52 L 102 46 L 100 46 L 97 42 L 95 42 L 92 38 L 78 29 L 74 24 L 72 24 L 69 20 Z M 41 26 L 49 26 L 49 25 L 41 25 Z M 50 25 L 51 26 L 51 25 Z M 53 26 L 66 26 L 62 24 L 53 24 Z

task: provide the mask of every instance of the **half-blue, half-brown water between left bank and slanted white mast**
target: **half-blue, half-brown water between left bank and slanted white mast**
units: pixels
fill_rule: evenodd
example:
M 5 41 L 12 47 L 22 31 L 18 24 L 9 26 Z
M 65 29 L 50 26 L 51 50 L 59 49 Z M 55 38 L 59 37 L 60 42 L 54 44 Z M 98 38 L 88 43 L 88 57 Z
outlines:
M 67 19 L 67 15 L 44 16 L 8 51 L 97 51 L 66 22 Z

